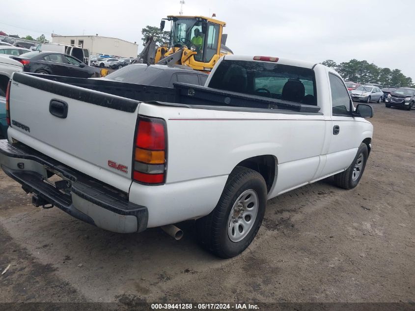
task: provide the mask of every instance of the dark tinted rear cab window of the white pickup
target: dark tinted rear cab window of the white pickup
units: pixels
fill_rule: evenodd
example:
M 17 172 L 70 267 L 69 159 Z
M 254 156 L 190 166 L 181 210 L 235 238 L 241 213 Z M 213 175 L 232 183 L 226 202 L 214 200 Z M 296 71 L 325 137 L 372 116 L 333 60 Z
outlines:
M 224 59 L 209 87 L 317 106 L 314 71 L 303 67 Z

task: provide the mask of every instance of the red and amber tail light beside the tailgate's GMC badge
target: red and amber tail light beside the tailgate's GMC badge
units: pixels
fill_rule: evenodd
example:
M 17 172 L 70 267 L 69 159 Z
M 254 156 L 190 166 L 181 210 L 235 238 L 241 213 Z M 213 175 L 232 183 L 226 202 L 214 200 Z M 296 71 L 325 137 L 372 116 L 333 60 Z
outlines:
M 146 185 L 160 185 L 165 182 L 166 123 L 164 120 L 138 117 L 132 178 Z

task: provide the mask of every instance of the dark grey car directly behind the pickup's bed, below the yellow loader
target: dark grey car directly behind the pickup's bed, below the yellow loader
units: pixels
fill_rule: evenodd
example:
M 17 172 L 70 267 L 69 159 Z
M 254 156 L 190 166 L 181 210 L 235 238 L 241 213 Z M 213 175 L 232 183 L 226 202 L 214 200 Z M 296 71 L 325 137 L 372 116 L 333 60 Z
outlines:
M 166 65 L 131 64 L 109 74 L 105 80 L 173 87 L 174 82 L 204 85 L 208 74 L 193 69 Z

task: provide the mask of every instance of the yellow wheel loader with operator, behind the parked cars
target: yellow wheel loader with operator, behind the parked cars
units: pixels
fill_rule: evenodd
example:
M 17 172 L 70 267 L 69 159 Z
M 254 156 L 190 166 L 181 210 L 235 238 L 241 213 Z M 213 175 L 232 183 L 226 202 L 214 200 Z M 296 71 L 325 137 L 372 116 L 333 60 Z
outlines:
M 156 47 L 156 38 L 148 36 L 143 51 L 135 62 L 161 65 L 183 65 L 209 72 L 221 56 L 233 54 L 225 46 L 224 22 L 203 16 L 170 15 L 163 19 L 171 22 L 169 46 Z

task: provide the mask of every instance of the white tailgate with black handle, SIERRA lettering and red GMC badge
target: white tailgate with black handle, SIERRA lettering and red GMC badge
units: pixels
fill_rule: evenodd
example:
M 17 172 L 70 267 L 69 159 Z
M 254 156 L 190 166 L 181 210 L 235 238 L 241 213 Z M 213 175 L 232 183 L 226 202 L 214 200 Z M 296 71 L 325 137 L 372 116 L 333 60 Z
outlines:
M 15 73 L 10 89 L 9 136 L 128 192 L 138 104 Z

